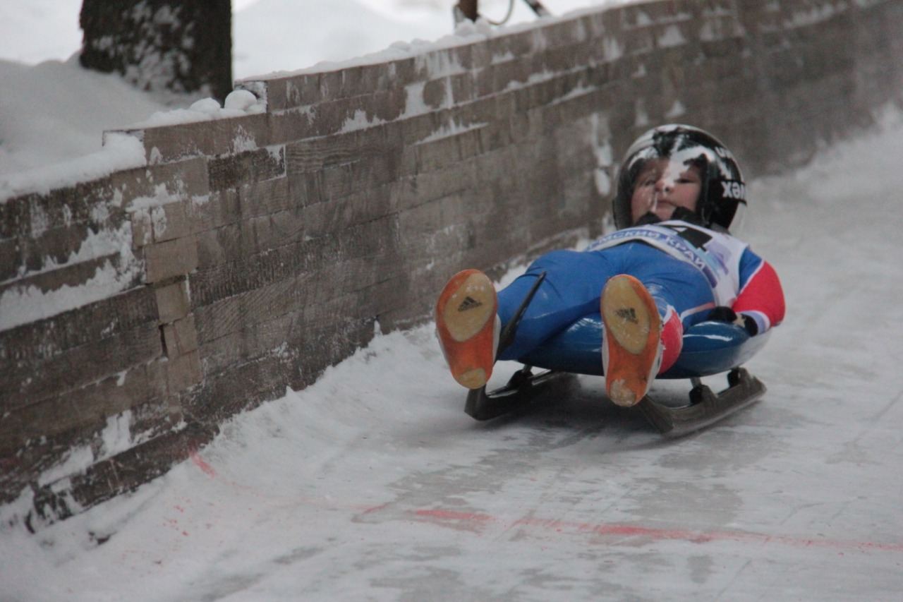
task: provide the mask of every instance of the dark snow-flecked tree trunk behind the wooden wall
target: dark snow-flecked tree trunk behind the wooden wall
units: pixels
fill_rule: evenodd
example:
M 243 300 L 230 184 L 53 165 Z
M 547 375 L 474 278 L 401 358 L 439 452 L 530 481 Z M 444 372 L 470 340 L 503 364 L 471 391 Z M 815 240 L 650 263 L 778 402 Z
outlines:
M 232 91 L 231 0 L 83 0 L 81 64 L 139 89 Z

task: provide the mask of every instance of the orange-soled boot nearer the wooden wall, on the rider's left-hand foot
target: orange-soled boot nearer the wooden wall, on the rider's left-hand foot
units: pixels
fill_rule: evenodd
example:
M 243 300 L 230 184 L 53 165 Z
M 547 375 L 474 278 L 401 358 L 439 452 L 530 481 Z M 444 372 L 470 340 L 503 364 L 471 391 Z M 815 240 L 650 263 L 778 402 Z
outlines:
M 436 302 L 436 334 L 455 381 L 468 389 L 489 381 L 500 326 L 498 297 L 489 277 L 478 269 L 452 276 Z

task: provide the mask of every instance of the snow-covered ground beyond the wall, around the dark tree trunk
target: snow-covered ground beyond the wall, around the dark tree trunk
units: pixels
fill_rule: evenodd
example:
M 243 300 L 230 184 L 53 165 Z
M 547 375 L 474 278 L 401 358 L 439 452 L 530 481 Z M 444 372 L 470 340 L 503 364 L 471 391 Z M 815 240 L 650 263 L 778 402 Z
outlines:
M 630 1 L 630 0 L 627 0 Z M 556 15 L 625 0 L 545 0 Z M 297 71 L 348 61 L 394 42 L 454 32 L 457 0 L 233 0 L 233 75 Z M 483 0 L 501 20 L 507 0 Z M 114 76 L 80 68 L 81 0 L 3 0 L 0 19 L 0 178 L 88 155 L 105 129 L 128 127 L 197 98 L 141 93 Z M 535 19 L 515 0 L 510 24 Z

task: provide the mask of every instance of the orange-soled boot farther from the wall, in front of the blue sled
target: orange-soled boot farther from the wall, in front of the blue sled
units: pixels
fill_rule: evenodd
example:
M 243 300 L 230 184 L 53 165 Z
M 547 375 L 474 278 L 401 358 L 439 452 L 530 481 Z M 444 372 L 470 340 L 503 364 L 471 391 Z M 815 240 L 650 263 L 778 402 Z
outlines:
M 662 319 L 656 302 L 635 277 L 610 278 L 602 289 L 602 371 L 605 390 L 619 406 L 642 400 L 662 362 Z

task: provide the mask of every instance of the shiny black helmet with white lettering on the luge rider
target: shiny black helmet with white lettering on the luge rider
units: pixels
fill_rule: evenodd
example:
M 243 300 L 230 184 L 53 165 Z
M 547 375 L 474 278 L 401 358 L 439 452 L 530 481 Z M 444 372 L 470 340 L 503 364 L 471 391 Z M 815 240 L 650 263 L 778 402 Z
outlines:
M 633 225 L 630 199 L 637 175 L 649 159 L 672 158 L 682 165 L 699 167 L 703 182 L 696 215 L 705 226 L 727 230 L 737 207 L 746 204 L 746 184 L 731 151 L 698 127 L 678 124 L 655 127 L 639 136 L 624 156 L 612 207 L 618 230 Z

